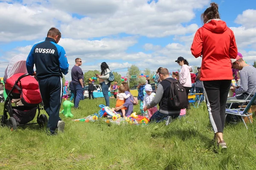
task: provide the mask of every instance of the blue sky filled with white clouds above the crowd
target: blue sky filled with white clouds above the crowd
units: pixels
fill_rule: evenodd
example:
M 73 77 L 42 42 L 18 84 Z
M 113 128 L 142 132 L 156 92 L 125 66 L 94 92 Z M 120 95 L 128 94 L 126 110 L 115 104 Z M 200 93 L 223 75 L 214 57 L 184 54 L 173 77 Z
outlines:
M 27 55 L 44 40 L 50 27 L 60 29 L 59 42 L 72 68 L 80 57 L 83 70 L 99 70 L 102 61 L 112 70 L 132 64 L 141 70 L 158 67 L 177 70 L 175 59 L 201 65 L 190 53 L 193 34 L 202 26 L 201 13 L 209 0 L 1 0 L 0 62 L 17 54 Z M 256 58 L 256 2 L 215 0 L 221 19 L 236 36 L 245 60 Z M 252 8 L 254 7 L 254 8 Z M 6 64 L 0 64 L 0 74 Z M 118 70 L 122 75 L 127 69 Z M 66 76 L 70 79 L 70 75 Z

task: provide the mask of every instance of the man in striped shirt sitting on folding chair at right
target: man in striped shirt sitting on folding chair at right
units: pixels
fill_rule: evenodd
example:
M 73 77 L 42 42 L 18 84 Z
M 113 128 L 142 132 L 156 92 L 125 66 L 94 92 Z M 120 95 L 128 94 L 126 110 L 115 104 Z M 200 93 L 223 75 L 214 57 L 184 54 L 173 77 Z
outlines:
M 242 58 L 239 56 L 236 59 L 231 59 L 232 68 L 239 70 L 240 75 L 240 86 L 231 89 L 233 93 L 236 93 L 235 97 L 229 97 L 227 100 L 232 99 L 246 99 L 247 96 L 253 91 L 256 86 L 256 68 L 252 65 L 248 65 Z M 253 93 L 249 96 L 248 100 L 250 100 L 253 95 L 256 93 L 256 89 L 254 89 Z M 239 95 L 240 94 L 240 95 Z M 233 103 L 232 108 L 239 108 L 241 103 Z M 256 105 L 256 100 L 253 105 Z M 230 104 L 227 104 L 227 107 Z

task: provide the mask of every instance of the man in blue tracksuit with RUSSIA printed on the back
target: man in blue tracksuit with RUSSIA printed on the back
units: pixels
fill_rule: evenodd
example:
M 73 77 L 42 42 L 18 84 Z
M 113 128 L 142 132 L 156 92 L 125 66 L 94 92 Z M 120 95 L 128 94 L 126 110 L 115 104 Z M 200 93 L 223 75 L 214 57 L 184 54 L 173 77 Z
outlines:
M 38 78 L 44 110 L 49 115 L 47 127 L 51 134 L 55 133 L 57 127 L 58 132 L 64 132 L 65 126 L 65 122 L 59 117 L 59 110 L 63 88 L 62 73 L 68 73 L 69 64 L 64 48 L 57 44 L 60 39 L 60 31 L 50 28 L 45 41 L 35 44 L 26 60 L 28 73 Z

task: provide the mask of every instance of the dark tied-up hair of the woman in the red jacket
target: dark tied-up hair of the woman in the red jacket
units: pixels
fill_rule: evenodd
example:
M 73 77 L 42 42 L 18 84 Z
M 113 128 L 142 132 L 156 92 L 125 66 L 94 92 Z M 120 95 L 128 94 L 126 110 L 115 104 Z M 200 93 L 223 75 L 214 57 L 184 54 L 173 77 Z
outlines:
M 218 12 L 218 4 L 210 3 L 210 7 L 207 8 L 203 14 L 201 14 L 201 20 L 207 23 L 208 20 L 221 19 Z

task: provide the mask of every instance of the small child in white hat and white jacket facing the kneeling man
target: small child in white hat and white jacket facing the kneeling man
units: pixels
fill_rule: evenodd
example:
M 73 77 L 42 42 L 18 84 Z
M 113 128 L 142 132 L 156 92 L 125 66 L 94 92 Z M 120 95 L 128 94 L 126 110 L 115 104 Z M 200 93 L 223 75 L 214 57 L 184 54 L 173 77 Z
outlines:
M 143 108 L 150 104 L 151 101 L 153 100 L 154 96 L 156 95 L 154 92 L 152 92 L 152 87 L 151 85 L 145 85 L 145 92 L 146 92 L 146 95 L 144 96 L 144 99 L 143 99 Z M 148 112 L 148 119 L 151 118 L 151 116 L 156 113 L 157 111 L 157 105 L 154 106 L 154 108 L 150 108 L 147 110 Z

